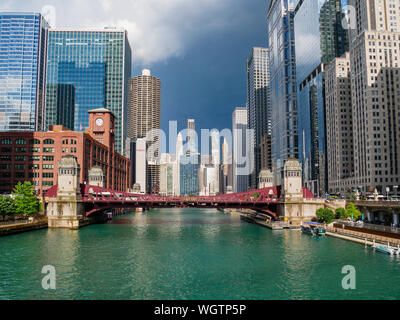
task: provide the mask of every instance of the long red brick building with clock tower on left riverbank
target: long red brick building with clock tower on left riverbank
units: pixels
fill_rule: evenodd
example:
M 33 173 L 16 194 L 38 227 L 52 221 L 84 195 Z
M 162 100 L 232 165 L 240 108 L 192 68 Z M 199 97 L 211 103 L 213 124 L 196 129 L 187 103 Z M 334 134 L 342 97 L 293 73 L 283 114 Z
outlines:
M 92 167 L 101 167 L 106 188 L 126 191 L 130 160 L 115 152 L 114 120 L 111 111 L 97 109 L 89 112 L 86 132 L 58 125 L 49 132 L 0 132 L 0 194 L 30 181 L 42 195 L 57 184 L 58 161 L 65 155 L 77 158 L 81 183 L 88 181 Z

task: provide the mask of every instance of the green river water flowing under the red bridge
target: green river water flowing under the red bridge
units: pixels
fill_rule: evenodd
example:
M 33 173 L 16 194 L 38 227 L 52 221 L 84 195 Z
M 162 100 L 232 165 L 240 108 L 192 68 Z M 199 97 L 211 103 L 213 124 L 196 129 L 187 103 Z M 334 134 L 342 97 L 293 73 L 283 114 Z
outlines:
M 342 287 L 346 265 L 356 290 Z M 54 266 L 56 290 L 42 288 L 44 266 Z M 0 238 L 0 299 L 400 299 L 399 267 L 360 244 L 238 214 L 152 210 Z

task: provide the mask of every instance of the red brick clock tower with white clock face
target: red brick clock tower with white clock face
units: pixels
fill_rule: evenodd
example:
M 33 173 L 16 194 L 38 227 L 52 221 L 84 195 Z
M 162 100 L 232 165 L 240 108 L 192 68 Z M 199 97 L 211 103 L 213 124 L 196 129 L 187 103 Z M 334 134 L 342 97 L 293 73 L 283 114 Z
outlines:
M 86 133 L 94 139 L 114 150 L 115 116 L 105 108 L 89 111 L 89 128 Z

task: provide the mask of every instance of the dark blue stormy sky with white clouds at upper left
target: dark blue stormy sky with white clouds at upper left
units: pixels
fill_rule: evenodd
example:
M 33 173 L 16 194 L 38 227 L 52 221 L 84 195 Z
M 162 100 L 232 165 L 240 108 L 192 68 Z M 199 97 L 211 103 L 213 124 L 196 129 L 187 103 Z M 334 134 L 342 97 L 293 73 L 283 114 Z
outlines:
M 231 127 L 245 106 L 245 63 L 266 46 L 268 0 L 1 0 L 0 11 L 44 12 L 53 27 L 128 30 L 132 76 L 149 68 L 162 81 L 162 127 L 196 119 Z

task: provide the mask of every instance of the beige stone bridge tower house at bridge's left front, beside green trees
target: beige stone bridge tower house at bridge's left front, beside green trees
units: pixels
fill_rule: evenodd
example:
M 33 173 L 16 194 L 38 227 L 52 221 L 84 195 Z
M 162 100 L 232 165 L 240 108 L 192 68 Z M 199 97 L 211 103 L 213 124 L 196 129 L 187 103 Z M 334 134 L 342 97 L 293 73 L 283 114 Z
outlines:
M 79 229 L 84 222 L 85 208 L 79 183 L 80 166 L 74 156 L 58 162 L 57 197 L 47 198 L 49 228 Z

